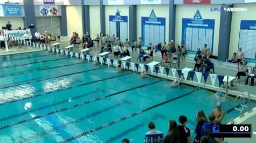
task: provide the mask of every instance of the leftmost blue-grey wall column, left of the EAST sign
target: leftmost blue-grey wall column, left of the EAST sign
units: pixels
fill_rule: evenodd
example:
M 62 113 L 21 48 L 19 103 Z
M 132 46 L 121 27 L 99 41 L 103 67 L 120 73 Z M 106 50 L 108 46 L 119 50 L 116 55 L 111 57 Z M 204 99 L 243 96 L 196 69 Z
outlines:
M 24 27 L 29 28 L 33 24 L 33 28 L 30 28 L 31 34 L 34 35 L 36 33 L 36 17 L 34 16 L 34 1 L 33 0 L 26 0 L 24 1 Z

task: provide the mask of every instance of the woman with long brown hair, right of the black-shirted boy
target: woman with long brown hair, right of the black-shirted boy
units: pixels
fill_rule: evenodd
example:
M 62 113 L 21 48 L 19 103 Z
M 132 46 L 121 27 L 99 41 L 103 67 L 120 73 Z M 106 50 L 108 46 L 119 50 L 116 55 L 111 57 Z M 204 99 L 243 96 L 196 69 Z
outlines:
M 201 139 L 201 129 L 205 122 L 208 122 L 208 119 L 206 118 L 204 111 L 199 110 L 197 111 L 196 115 L 196 138 L 194 142 L 199 142 Z

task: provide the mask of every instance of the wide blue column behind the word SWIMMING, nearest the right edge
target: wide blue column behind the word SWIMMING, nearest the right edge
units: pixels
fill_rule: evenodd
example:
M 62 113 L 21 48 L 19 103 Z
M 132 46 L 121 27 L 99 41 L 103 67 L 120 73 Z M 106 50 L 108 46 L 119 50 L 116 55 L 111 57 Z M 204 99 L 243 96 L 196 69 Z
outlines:
M 233 5 L 222 5 L 222 9 L 224 7 Z M 231 20 L 232 12 L 220 12 L 218 61 L 225 61 L 229 57 Z

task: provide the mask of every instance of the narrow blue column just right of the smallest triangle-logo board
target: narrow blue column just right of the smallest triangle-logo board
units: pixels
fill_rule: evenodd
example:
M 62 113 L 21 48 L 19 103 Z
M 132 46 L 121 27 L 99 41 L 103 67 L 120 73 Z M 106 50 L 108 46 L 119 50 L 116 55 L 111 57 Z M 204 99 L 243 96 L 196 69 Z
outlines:
M 137 6 L 129 5 L 129 41 L 137 41 Z

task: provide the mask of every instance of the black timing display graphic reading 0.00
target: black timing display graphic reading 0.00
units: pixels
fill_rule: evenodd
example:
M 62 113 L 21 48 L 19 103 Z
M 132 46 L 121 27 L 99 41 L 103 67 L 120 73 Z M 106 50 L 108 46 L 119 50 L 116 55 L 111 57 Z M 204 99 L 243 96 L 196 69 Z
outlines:
M 251 124 L 213 125 L 212 137 L 251 138 Z

